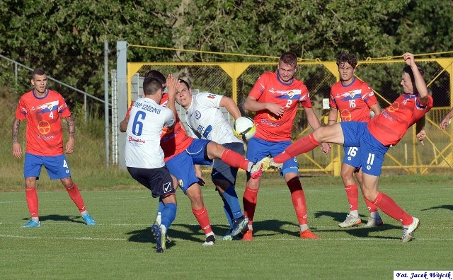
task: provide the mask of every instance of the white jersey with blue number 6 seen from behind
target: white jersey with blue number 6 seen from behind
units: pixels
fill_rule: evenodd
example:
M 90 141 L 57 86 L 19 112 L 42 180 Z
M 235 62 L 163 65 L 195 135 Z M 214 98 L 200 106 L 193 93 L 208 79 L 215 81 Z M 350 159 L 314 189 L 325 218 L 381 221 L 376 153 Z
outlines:
M 173 125 L 175 117 L 167 107 L 151 98 L 139 98 L 130 111 L 127 123 L 125 159 L 127 167 L 161 168 L 164 151 L 161 134 L 164 127 Z

